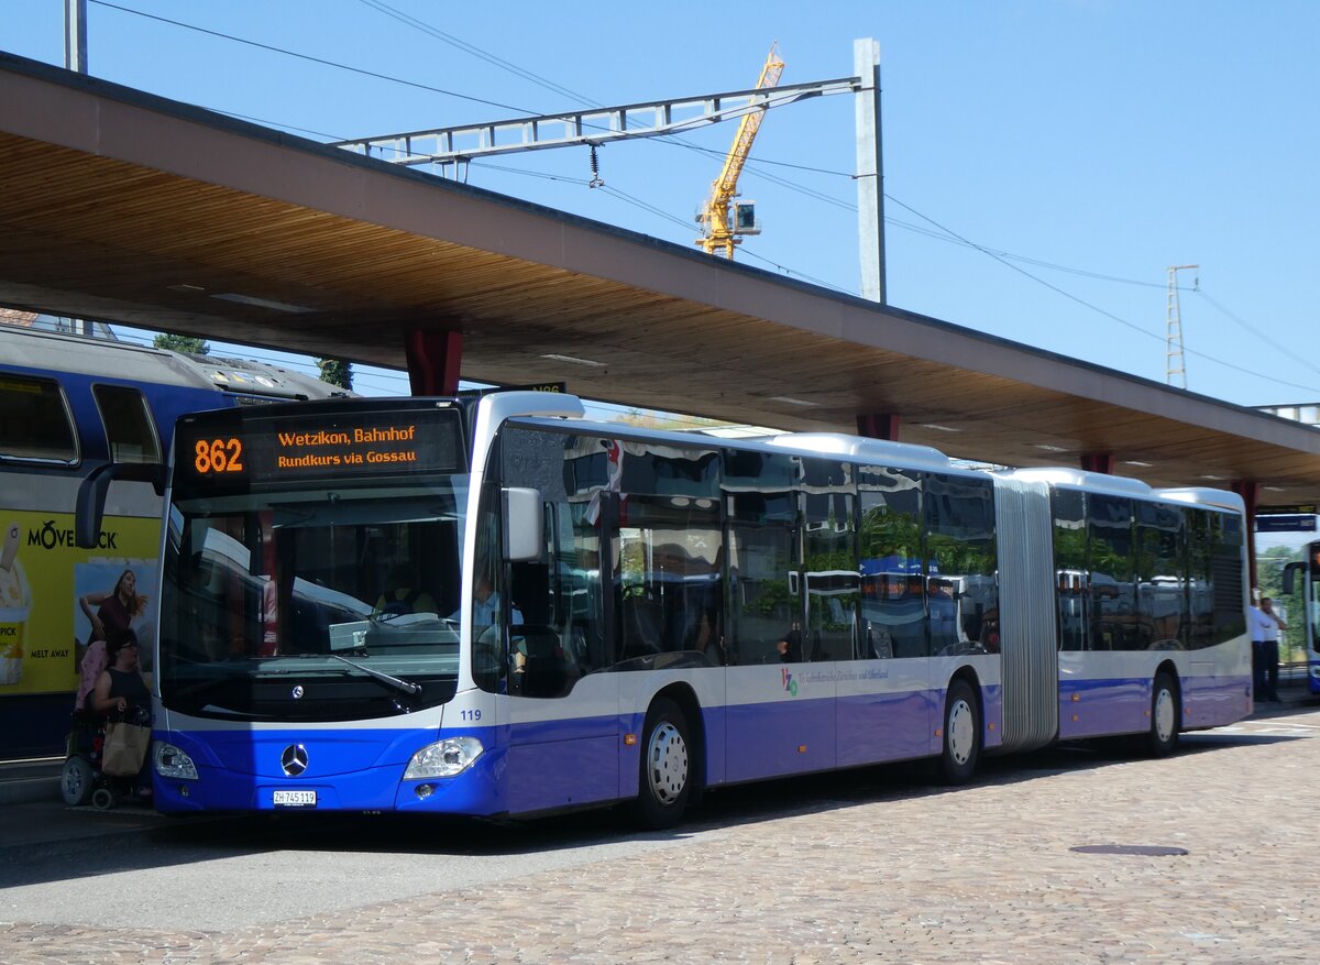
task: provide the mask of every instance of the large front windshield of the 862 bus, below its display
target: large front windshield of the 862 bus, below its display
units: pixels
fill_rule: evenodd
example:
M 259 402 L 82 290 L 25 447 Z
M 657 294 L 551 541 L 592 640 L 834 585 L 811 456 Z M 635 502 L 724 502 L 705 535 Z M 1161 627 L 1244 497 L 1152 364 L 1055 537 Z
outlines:
M 343 719 L 449 700 L 466 504 L 466 475 L 172 503 L 165 706 Z

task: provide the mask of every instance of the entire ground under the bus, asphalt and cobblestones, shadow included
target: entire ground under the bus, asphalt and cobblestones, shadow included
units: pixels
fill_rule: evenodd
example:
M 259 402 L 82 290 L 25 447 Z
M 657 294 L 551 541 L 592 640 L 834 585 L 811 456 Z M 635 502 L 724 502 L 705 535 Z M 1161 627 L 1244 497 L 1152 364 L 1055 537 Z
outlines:
M 1299 848 L 1311 836 L 1292 825 L 1298 803 L 1313 803 L 1298 782 L 1320 766 L 1315 737 L 1320 713 L 1299 706 L 1185 735 L 1183 752 L 1168 762 L 1061 749 L 990 760 L 977 784 L 956 791 L 931 785 L 917 764 L 746 785 L 710 795 L 690 821 L 661 834 L 636 833 L 614 811 L 504 824 L 330 815 L 195 821 L 132 808 L 24 805 L 0 824 L 33 830 L 0 837 L 0 961 L 205 962 L 240 952 L 244 962 L 397 961 L 391 943 L 408 948 L 400 936 L 409 929 L 414 945 L 440 943 L 429 960 L 466 949 L 474 961 L 871 961 L 879 939 L 858 937 L 878 927 L 867 924 L 869 908 L 890 908 L 884 933 L 898 943 L 895 961 L 1294 961 L 1267 953 L 1279 948 L 1274 912 L 1242 884 L 1243 873 L 1261 873 L 1243 867 L 1238 853 L 1263 855 L 1266 888 L 1313 892 L 1320 846 Z M 1265 813 L 1271 811 L 1274 817 Z M 44 821 L 71 830 L 34 833 Z M 1193 857 L 1068 854 L 1115 840 Z M 1166 863 L 1125 863 L 1151 861 Z M 998 887 L 977 883 L 982 865 L 997 869 Z M 1023 950 L 1040 939 L 1032 929 L 1068 928 L 1051 919 L 1060 908 L 1028 923 L 1016 912 L 952 915 L 954 906 L 939 898 L 960 892 L 962 908 L 1016 904 L 1036 891 L 1055 895 L 1060 882 L 1090 903 L 1067 935 L 1073 953 L 1051 943 Z M 1143 895 L 1146 886 L 1154 898 Z M 539 898 L 545 894 L 556 899 Z M 1230 914 L 1236 895 L 1243 906 Z M 694 896 L 694 910 L 675 924 L 673 910 Z M 1209 903 L 1200 924 L 1192 899 Z M 903 900 L 911 911 L 902 911 Z M 525 912 L 529 902 L 535 908 Z M 821 937 L 838 927 L 840 908 L 846 917 L 854 906 L 859 914 L 847 929 Z M 1189 921 L 1170 945 L 1160 944 L 1166 928 L 1131 945 L 1148 956 L 1089 957 L 1086 928 L 1135 932 L 1146 928 L 1135 921 L 1158 917 L 1152 910 L 1164 906 Z M 1221 906 L 1216 931 L 1213 908 Z M 548 920 L 560 914 L 570 916 L 572 935 Z M 622 924 L 603 924 L 618 916 Z M 513 919 L 525 921 L 515 927 Z M 1311 919 L 1286 916 L 1308 929 L 1308 948 L 1320 943 Z M 816 948 L 814 957 L 779 954 L 783 920 L 805 929 L 795 947 Z M 730 921 L 747 929 L 744 944 L 726 948 L 721 928 Z M 1250 929 L 1241 924 L 1247 921 Z M 602 931 L 585 935 L 593 923 Z M 639 923 L 647 939 L 630 937 Z M 969 954 L 960 941 L 977 929 L 1028 945 Z M 715 947 L 725 950 L 709 953 Z

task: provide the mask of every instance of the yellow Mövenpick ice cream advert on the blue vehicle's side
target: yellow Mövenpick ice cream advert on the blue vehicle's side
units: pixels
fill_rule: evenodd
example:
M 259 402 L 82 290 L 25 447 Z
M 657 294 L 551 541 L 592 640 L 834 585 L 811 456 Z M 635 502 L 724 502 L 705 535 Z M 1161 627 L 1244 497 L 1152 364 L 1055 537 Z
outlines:
M 98 623 L 131 627 L 150 668 L 160 520 L 107 516 L 79 549 L 73 514 L 0 510 L 0 697 L 73 693 Z

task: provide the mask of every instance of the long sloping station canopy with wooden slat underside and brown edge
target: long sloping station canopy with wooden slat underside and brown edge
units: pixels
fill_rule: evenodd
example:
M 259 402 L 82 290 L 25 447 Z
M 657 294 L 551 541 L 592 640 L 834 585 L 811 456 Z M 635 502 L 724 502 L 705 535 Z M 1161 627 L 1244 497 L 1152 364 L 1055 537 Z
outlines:
M 0 54 L 0 304 L 1156 486 L 1320 500 L 1320 432 Z M 578 359 L 577 362 L 572 359 Z

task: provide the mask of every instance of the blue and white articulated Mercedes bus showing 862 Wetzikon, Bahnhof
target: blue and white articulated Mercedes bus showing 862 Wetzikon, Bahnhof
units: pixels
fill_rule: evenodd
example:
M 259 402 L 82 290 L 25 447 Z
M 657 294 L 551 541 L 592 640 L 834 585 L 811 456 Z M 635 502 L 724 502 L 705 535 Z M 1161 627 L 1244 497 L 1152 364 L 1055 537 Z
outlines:
M 168 813 L 628 803 L 661 828 L 741 782 L 931 758 L 961 783 L 1117 734 L 1163 755 L 1251 710 L 1229 492 L 648 432 L 543 392 L 185 416 L 165 482 Z

